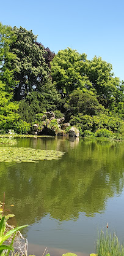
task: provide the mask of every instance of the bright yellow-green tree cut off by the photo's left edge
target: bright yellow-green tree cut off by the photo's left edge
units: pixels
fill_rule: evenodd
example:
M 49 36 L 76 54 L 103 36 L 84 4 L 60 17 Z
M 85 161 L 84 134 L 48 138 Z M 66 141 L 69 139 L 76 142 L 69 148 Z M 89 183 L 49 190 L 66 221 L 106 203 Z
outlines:
M 10 45 L 16 37 L 10 26 L 0 23 L 0 129 L 13 128 L 13 122 L 18 120 L 18 104 L 13 103 L 13 88 L 16 81 L 13 76 L 14 69 L 10 63 L 16 55 L 10 52 Z M 7 64 L 6 64 L 7 63 Z

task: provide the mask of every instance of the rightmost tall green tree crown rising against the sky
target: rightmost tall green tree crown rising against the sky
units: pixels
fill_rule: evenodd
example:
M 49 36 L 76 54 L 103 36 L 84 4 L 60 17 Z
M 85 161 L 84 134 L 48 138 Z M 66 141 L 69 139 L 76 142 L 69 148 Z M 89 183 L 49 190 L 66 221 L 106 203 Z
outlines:
M 99 102 L 106 108 L 110 107 L 120 83 L 119 78 L 114 77 L 112 64 L 95 56 L 93 60 L 87 61 L 85 70 Z

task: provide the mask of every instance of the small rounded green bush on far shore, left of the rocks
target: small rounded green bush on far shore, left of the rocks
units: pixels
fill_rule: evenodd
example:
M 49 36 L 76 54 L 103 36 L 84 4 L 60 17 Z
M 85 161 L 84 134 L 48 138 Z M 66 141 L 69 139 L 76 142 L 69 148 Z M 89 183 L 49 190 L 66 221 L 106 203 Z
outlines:
M 31 123 L 27 123 L 23 120 L 18 121 L 14 125 L 14 130 L 19 134 L 27 134 L 31 131 Z

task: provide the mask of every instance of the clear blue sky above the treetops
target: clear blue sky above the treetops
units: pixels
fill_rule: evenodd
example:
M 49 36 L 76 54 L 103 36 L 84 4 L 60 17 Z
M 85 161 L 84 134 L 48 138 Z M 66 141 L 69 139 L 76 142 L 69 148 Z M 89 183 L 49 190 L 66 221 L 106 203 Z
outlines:
M 3 25 L 32 29 L 55 53 L 71 47 L 88 60 L 101 56 L 124 80 L 123 0 L 4 0 L 0 8 Z

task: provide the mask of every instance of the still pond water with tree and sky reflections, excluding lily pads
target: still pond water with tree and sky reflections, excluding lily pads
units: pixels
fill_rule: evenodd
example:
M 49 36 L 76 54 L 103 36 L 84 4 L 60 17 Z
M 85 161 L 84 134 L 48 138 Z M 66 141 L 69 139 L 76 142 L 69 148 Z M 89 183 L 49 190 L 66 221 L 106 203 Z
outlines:
M 16 138 L 16 147 L 65 152 L 59 160 L 0 163 L 0 200 L 22 230 L 29 254 L 94 252 L 98 230 L 124 242 L 124 143 L 82 138 Z M 15 147 L 15 146 L 14 146 Z M 10 206 L 14 204 L 14 206 Z

